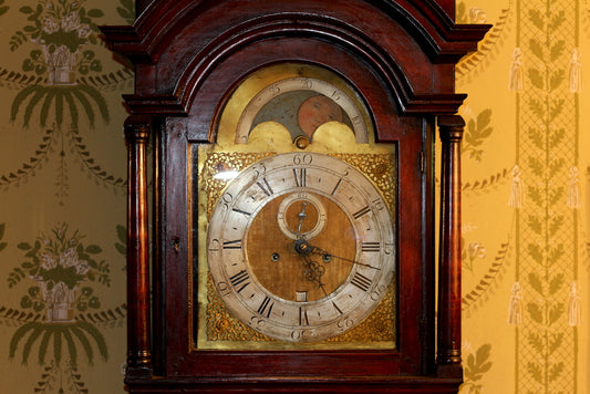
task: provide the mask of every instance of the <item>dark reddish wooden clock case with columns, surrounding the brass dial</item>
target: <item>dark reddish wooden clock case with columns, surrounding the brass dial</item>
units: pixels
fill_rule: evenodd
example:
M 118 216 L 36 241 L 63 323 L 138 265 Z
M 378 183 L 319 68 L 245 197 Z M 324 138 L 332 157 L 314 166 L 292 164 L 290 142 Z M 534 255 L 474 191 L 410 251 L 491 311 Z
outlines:
M 454 7 L 454 0 L 137 1 L 133 25 L 102 28 L 112 48 L 135 65 L 135 93 L 124 96 L 131 112 L 125 123 L 130 392 L 457 392 L 464 122 L 454 114 L 465 95 L 455 93 L 454 65 L 477 49 L 489 27 L 455 24 Z M 187 272 L 189 256 L 197 253 L 188 248 L 197 229 L 189 228 L 194 179 L 187 177 L 187 153 L 215 143 L 216 122 L 241 81 L 283 62 L 323 68 L 346 81 L 370 112 L 375 142 L 396 145 L 395 349 L 190 350 L 189 310 L 196 305 Z

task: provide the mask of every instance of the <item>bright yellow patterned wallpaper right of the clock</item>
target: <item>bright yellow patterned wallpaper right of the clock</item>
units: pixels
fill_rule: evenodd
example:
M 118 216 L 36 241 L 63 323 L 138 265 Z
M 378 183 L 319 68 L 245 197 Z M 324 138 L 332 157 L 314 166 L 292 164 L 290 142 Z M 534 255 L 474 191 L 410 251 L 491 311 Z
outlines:
M 493 23 L 456 70 L 462 393 L 590 393 L 590 4 L 457 1 Z

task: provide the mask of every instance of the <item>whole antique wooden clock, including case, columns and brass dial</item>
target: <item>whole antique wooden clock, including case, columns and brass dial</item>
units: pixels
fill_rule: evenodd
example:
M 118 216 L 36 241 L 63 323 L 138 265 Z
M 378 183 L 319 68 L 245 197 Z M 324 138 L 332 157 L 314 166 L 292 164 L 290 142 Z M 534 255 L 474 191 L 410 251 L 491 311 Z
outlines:
M 454 68 L 489 27 L 454 0 L 136 9 L 102 28 L 135 65 L 127 390 L 456 393 Z

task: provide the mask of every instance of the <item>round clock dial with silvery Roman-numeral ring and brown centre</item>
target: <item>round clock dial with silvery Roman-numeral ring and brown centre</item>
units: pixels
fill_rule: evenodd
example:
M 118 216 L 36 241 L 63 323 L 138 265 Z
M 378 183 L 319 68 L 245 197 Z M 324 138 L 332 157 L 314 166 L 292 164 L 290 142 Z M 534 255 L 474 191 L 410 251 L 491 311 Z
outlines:
M 291 342 L 359 324 L 395 271 L 393 219 L 380 191 L 317 153 L 280 154 L 241 172 L 214 208 L 207 248 L 230 312 Z

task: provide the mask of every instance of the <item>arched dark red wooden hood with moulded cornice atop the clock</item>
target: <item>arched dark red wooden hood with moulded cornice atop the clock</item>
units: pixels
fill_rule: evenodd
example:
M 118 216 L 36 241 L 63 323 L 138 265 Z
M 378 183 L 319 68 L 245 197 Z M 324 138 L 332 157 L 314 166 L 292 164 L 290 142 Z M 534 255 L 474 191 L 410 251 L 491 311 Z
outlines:
M 455 24 L 435 1 L 154 1 L 131 27 L 103 28 L 116 52 L 157 76 L 126 96 L 133 113 L 186 114 L 199 89 L 226 68 L 224 86 L 266 64 L 322 63 L 344 75 L 371 72 L 401 114 L 453 114 L 454 64 L 477 50 L 482 24 Z M 208 94 L 209 92 L 207 92 Z

